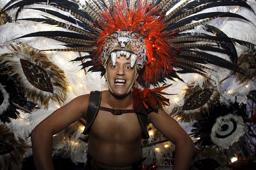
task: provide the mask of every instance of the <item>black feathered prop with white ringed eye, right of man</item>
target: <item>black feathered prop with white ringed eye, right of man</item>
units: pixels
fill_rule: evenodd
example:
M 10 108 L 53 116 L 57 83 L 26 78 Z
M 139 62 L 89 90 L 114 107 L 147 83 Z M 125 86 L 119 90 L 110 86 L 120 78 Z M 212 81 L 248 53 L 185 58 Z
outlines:
M 227 149 L 244 134 L 245 117 L 245 104 L 213 105 L 209 115 L 201 114 L 193 125 L 195 144 Z

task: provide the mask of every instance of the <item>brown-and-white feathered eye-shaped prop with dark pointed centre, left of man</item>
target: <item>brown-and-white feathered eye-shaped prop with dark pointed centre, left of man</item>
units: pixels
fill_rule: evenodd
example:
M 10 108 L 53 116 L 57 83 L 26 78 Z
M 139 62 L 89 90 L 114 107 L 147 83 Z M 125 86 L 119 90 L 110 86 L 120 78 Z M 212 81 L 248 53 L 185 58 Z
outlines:
M 0 64 L 20 81 L 29 100 L 48 107 L 49 101 L 64 102 L 68 83 L 64 72 L 45 54 L 25 44 L 12 45 L 10 53 L 0 56 Z

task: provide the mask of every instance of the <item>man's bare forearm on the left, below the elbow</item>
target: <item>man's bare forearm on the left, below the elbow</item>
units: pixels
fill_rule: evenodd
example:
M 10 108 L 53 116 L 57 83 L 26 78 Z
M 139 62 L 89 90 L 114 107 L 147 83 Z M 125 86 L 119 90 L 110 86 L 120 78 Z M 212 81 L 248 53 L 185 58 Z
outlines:
M 52 134 L 43 131 L 32 131 L 32 151 L 37 170 L 54 170 L 52 163 Z

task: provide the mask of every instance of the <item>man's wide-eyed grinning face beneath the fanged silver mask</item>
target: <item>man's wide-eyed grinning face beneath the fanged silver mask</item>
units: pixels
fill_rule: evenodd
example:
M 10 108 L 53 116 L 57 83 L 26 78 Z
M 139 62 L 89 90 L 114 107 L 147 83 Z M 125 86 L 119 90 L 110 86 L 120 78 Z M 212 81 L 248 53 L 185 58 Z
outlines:
M 113 66 L 111 57 L 107 63 L 107 81 L 111 87 L 113 93 L 116 96 L 124 96 L 133 84 L 135 76 L 135 68 L 131 67 L 130 58 L 121 55 L 120 58 L 116 58 L 116 65 Z M 138 75 L 136 75 L 137 78 Z M 136 80 L 135 78 L 135 80 Z

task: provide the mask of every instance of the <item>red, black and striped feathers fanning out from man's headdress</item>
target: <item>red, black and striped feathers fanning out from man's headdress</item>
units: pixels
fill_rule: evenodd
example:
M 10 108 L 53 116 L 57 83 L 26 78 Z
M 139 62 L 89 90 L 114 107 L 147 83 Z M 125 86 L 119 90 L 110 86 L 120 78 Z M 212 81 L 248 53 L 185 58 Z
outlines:
M 53 15 L 43 18 L 18 19 L 19 13 L 27 5 L 34 3 L 47 3 L 48 6 L 58 10 L 29 8 Z M 208 76 L 207 69 L 210 65 L 228 68 L 241 74 L 244 70 L 236 66 L 237 53 L 235 43 L 255 48 L 250 42 L 229 38 L 218 28 L 207 25 L 208 21 L 220 17 L 233 17 L 250 22 L 243 16 L 230 12 L 200 13 L 206 9 L 219 6 L 239 5 L 253 11 L 243 0 L 223 1 L 184 1 L 168 15 L 165 13 L 176 5 L 178 1 L 108 1 L 89 0 L 85 4 L 79 0 L 61 2 L 55 0 L 10 1 L 1 11 L 2 14 L 13 8 L 18 8 L 16 20 L 31 20 L 50 25 L 67 28 L 69 31 L 42 31 L 34 32 L 25 37 L 43 36 L 65 42 L 67 48 L 49 49 L 45 51 L 77 51 L 88 52 L 89 55 L 78 57 L 74 61 L 91 59 L 83 63 L 83 68 L 92 66 L 89 71 L 105 72 L 102 65 L 102 50 L 104 41 L 111 37 L 112 32 L 138 32 L 143 35 L 146 47 L 146 57 L 143 67 L 139 71 L 139 83 L 143 87 L 151 84 L 156 86 L 158 82 L 164 82 L 165 78 L 180 77 L 176 73 L 199 73 Z M 81 7 L 83 11 L 80 10 Z M 68 12 L 69 16 L 65 15 Z M 191 29 L 198 25 L 204 25 L 204 33 L 191 34 Z M 111 37 L 113 38 L 113 37 Z M 136 36 L 135 36 L 136 38 Z M 225 60 L 209 52 L 218 52 L 229 55 Z M 137 58 L 140 60 L 140 58 Z M 176 68 L 176 72 L 174 71 Z M 180 79 L 181 80 L 181 79 Z

